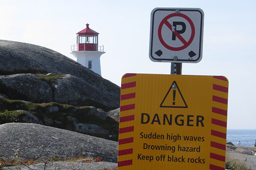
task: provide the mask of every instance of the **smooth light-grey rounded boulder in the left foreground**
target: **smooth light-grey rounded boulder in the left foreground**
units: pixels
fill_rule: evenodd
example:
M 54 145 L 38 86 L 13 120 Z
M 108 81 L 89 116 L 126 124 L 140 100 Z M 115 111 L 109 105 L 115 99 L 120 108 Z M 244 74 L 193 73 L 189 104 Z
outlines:
M 117 162 L 118 142 L 32 123 L 0 125 L 0 158 L 93 156 Z M 18 150 L 18 151 L 17 151 Z

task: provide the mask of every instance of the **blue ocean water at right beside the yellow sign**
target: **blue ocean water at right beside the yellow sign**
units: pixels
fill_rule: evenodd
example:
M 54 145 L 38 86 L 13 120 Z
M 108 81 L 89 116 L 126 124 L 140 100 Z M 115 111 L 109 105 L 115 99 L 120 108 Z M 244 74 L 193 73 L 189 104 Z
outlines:
M 227 141 L 237 144 L 240 141 L 241 146 L 253 146 L 256 139 L 256 130 L 254 129 L 227 129 Z

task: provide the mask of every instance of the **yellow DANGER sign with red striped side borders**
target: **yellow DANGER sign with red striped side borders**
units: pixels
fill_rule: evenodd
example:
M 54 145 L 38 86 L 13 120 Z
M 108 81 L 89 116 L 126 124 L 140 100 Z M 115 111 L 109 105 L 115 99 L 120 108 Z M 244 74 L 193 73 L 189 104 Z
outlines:
M 118 170 L 224 170 L 228 80 L 125 74 Z

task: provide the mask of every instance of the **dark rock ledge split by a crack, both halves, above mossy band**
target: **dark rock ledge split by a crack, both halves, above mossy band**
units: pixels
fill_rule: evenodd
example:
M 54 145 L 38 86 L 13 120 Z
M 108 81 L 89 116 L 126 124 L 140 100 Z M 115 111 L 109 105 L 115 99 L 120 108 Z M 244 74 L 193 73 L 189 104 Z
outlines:
M 76 76 L 58 75 L 47 80 L 48 75 L 13 74 L 0 76 L 0 93 L 12 99 L 21 99 L 35 103 L 58 102 L 75 106 L 94 106 L 104 110 L 119 107 L 119 102 L 111 96 L 91 86 Z

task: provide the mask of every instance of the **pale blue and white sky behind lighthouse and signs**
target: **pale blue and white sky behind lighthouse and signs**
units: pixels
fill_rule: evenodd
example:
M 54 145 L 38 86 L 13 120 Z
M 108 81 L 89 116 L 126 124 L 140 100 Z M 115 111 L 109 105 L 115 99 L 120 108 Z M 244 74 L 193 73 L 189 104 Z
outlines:
M 0 39 L 26 42 L 67 57 L 76 33 L 99 32 L 102 77 L 121 85 L 125 73 L 170 74 L 168 62 L 148 57 L 154 8 L 201 8 L 203 55 L 183 63 L 182 74 L 221 75 L 229 80 L 229 129 L 256 129 L 255 0 L 0 0 Z

